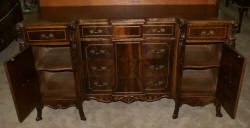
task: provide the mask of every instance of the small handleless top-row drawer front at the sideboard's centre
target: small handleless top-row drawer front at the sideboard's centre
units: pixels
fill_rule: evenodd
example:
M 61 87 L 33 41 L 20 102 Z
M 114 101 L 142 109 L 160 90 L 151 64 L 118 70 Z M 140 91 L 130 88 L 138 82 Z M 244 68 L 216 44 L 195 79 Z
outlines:
M 141 26 L 113 26 L 112 27 L 113 38 L 123 37 L 141 37 Z

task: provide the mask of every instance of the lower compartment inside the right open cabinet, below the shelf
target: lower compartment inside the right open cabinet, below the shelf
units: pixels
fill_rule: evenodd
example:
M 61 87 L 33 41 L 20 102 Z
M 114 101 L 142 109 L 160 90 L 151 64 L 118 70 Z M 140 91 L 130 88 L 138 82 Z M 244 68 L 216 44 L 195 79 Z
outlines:
M 184 70 L 181 91 L 184 95 L 214 95 L 218 69 Z

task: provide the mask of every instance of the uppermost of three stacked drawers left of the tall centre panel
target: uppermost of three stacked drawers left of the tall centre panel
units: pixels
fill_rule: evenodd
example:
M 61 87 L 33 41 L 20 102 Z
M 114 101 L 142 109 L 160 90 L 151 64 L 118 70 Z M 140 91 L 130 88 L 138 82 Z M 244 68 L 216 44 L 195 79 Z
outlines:
M 88 44 L 85 51 L 88 60 L 114 59 L 113 44 Z

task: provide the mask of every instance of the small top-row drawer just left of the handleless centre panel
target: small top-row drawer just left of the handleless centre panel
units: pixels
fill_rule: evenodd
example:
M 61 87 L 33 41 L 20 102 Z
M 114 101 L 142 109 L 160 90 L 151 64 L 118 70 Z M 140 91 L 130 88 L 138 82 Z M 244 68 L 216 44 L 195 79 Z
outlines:
M 111 26 L 81 26 L 81 37 L 109 37 Z

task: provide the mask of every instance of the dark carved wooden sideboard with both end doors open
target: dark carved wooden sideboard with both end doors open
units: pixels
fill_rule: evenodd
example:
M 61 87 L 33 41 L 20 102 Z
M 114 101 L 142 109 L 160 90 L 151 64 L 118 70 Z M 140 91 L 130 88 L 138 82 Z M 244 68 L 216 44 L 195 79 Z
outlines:
M 44 106 L 75 106 L 86 120 L 86 100 L 162 98 L 175 100 L 173 119 L 182 104 L 209 103 L 217 117 L 223 107 L 235 118 L 246 59 L 234 49 L 233 21 L 35 16 L 19 24 L 22 50 L 4 65 L 20 122 L 34 108 L 41 120 Z

